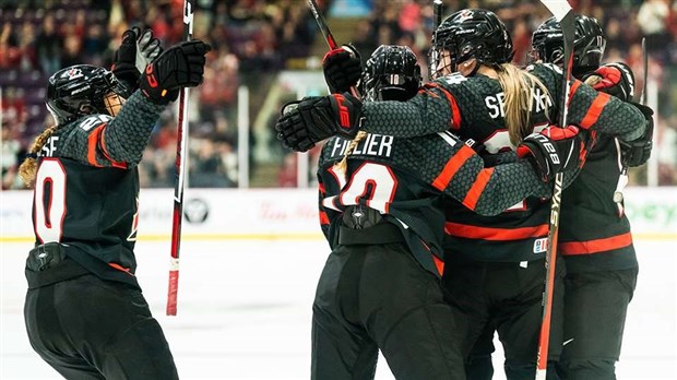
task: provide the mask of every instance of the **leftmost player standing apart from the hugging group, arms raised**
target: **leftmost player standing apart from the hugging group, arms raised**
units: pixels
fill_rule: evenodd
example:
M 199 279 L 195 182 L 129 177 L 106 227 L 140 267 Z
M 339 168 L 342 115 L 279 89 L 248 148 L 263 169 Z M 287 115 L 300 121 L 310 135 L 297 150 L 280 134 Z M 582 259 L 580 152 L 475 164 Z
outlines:
M 200 40 L 171 47 L 127 99 L 104 68 L 49 78 L 57 124 L 20 168 L 35 189 L 24 317 L 31 345 L 64 378 L 178 378 L 135 276 L 136 166 L 163 109 L 180 87 L 202 82 L 209 50 Z

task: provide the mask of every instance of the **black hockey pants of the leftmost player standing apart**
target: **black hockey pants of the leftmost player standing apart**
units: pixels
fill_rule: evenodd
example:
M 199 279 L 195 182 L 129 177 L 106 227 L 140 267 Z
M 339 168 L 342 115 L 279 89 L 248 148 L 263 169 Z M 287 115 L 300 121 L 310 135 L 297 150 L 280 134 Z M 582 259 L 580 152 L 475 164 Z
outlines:
M 34 253 L 34 252 L 32 252 Z M 24 318 L 33 348 L 67 379 L 178 379 L 165 335 L 141 290 L 88 274 L 61 257 L 27 262 Z M 57 282 L 66 273 L 70 278 Z

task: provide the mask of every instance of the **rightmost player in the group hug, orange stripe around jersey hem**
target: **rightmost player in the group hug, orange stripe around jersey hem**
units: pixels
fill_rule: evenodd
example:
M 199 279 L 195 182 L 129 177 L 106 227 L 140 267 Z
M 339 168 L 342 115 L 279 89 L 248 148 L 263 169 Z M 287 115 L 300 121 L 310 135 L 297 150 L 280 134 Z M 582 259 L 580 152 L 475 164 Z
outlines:
M 550 19 L 534 32 L 533 59 L 561 64 L 559 31 L 558 22 Z M 597 21 L 577 15 L 573 74 L 597 91 L 631 102 L 632 71 L 620 62 L 602 66 L 605 45 Z M 643 165 L 652 149 L 652 111 L 638 107 L 649 128 L 632 142 L 598 135 L 583 170 L 562 194 L 558 251 L 566 259 L 567 276 L 559 368 L 565 379 L 616 379 L 639 265 L 622 197 L 615 199 L 615 193 L 622 190 L 623 165 Z M 642 123 L 636 127 L 643 130 Z

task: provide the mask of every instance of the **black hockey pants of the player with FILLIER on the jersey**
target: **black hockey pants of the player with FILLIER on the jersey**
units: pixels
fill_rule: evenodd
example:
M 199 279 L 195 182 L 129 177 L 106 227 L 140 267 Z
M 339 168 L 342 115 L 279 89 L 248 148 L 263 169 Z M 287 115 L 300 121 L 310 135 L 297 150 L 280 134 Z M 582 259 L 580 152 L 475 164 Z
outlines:
M 463 329 L 439 278 L 404 242 L 380 236 L 340 245 L 326 260 L 312 307 L 311 378 L 373 379 L 380 348 L 397 379 L 465 379 Z

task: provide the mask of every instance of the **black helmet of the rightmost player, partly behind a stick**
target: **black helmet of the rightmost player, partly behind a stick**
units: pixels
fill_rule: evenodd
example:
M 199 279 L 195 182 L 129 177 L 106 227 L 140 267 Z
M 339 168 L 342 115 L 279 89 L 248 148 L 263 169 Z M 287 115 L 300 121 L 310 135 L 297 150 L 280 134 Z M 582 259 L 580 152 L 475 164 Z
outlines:
M 575 37 L 573 41 L 574 76 L 596 70 L 602 64 L 606 37 L 595 17 L 575 15 Z M 562 33 L 555 17 L 541 24 L 532 36 L 531 60 L 562 64 Z

